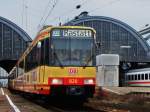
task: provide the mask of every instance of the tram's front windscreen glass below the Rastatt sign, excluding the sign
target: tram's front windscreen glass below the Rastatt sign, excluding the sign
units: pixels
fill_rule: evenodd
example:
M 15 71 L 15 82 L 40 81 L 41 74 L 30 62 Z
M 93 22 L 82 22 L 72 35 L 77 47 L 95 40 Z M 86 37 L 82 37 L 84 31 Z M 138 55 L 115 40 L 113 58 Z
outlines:
M 52 38 L 56 66 L 92 66 L 93 38 Z

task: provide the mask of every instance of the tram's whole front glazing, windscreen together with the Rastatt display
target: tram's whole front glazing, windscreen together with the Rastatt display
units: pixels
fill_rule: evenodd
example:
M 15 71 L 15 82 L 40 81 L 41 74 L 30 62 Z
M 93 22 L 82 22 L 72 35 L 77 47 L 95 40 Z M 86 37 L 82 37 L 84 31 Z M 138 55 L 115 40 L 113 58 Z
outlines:
M 91 30 L 54 30 L 51 48 L 57 66 L 93 66 L 94 37 Z

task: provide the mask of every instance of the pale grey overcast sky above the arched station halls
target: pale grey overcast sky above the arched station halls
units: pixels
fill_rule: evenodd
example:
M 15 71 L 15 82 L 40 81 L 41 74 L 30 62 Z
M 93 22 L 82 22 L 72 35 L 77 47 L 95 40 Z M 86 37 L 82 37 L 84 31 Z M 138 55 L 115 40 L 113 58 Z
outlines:
M 82 11 L 88 11 L 91 16 L 107 16 L 121 20 L 137 31 L 144 28 L 146 24 L 150 24 L 150 0 L 55 1 L 0 0 L 0 16 L 17 24 L 32 39 L 35 38 L 41 26 L 65 23 Z M 81 7 L 76 9 L 77 5 L 81 5 Z

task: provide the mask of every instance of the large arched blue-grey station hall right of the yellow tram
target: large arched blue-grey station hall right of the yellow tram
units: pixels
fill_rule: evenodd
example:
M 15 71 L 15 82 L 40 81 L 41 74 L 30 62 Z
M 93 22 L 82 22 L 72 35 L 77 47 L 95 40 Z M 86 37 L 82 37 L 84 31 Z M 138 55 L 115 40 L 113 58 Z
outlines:
M 150 47 L 143 37 L 126 23 L 110 17 L 89 16 L 82 12 L 65 25 L 89 26 L 96 30 L 100 45 L 96 54 L 119 54 L 120 62 L 150 62 Z

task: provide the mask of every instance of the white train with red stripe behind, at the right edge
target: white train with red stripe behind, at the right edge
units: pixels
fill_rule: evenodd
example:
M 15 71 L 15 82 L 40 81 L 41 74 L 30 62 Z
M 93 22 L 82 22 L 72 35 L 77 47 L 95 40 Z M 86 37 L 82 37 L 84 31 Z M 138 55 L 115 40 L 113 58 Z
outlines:
M 129 70 L 125 73 L 126 86 L 150 86 L 150 68 Z

